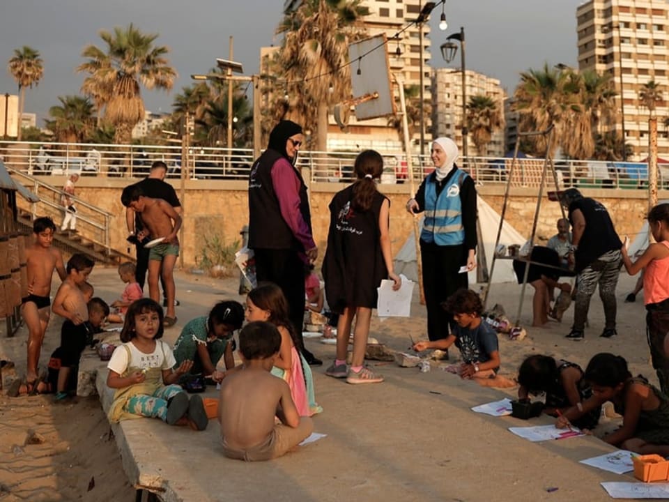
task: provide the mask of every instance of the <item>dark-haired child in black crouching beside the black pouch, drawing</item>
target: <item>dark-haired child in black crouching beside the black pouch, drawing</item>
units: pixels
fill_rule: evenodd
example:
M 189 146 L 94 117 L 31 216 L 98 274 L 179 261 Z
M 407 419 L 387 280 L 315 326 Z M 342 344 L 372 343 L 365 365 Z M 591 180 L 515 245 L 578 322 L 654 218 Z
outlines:
M 544 413 L 557 416 L 571 406 L 583 404 L 592 397 L 592 388 L 583 378 L 583 370 L 567 360 L 535 354 L 526 358 L 518 370 L 518 399 L 529 400 L 530 394 L 546 393 Z M 588 413 L 574 415 L 574 425 L 579 429 L 594 429 L 599 422 L 601 406 Z

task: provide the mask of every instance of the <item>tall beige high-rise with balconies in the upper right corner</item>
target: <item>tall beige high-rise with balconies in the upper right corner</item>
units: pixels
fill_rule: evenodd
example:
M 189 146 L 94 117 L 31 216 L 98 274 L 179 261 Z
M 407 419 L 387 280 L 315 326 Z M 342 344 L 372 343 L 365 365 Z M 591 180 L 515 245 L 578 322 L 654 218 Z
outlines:
M 633 149 L 629 160 L 643 160 L 648 153 L 650 116 L 639 97 L 644 84 L 659 84 L 663 100 L 657 102 L 655 114 L 660 120 L 668 114 L 669 4 L 666 0 L 590 0 L 576 9 L 576 19 L 579 70 L 610 73 L 618 93 L 615 119 L 601 123 L 602 132 L 621 134 L 624 114 L 625 141 Z M 658 151 L 669 155 L 662 125 Z

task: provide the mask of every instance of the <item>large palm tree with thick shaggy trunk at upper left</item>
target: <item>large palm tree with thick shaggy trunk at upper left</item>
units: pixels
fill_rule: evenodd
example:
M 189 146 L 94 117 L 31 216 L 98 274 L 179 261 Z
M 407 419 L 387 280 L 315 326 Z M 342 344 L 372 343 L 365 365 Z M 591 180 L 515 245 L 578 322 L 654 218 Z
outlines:
M 82 56 L 89 60 L 79 65 L 77 71 L 89 73 L 100 91 L 111 87 L 105 120 L 116 128 L 114 140 L 127 143 L 132 128 L 144 119 L 140 84 L 146 89 L 169 91 L 176 71 L 165 57 L 169 49 L 154 45 L 158 35 L 145 35 L 132 23 L 125 29 L 116 26 L 114 33 L 102 30 L 100 38 L 107 45 L 106 51 L 95 45 L 84 47 Z

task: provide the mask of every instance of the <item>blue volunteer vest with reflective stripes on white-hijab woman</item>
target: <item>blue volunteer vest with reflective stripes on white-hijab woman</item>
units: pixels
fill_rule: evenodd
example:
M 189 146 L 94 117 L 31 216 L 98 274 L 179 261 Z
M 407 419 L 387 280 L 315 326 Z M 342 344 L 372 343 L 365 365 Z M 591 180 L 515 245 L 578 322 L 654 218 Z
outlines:
M 459 245 L 465 242 L 460 187 L 466 176 L 466 172 L 456 169 L 439 197 L 434 174 L 426 181 L 425 219 L 420 233 L 422 241 L 437 245 Z

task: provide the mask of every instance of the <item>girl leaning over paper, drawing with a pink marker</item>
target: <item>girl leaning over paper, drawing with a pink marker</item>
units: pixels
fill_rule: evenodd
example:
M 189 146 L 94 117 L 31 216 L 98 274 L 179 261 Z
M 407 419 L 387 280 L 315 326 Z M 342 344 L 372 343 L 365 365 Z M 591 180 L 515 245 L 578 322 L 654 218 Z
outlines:
M 592 386 L 592 397 L 568 409 L 555 427 L 568 427 L 578 413 L 610 401 L 622 415 L 622 427 L 603 441 L 641 455 L 669 455 L 669 397 L 644 377 L 633 378 L 627 361 L 611 353 L 594 356 L 585 368 L 585 379 Z

